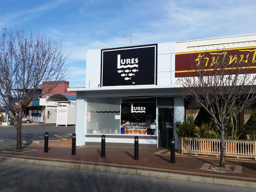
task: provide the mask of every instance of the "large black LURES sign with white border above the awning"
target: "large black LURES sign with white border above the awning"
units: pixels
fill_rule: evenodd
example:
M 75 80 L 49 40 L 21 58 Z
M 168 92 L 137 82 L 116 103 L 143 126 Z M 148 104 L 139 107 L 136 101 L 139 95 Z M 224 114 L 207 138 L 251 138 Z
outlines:
M 101 86 L 156 85 L 157 44 L 101 50 Z

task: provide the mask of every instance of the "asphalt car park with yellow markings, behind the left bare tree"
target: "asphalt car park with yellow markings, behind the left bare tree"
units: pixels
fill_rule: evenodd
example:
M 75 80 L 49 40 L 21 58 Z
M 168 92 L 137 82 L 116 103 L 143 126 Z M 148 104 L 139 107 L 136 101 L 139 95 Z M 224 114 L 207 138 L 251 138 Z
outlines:
M 75 132 L 74 126 L 57 126 L 56 124 L 22 125 L 21 137 L 24 144 L 33 140 L 44 140 L 44 133 L 49 132 L 49 140 L 71 139 Z M 0 126 L 0 148 L 16 145 L 16 128 L 13 126 Z

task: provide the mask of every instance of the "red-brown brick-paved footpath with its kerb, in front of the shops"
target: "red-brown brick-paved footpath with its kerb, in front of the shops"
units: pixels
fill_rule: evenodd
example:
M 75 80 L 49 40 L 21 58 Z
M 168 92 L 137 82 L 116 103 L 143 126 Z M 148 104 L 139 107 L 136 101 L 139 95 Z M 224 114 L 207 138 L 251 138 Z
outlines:
M 76 148 L 75 156 L 71 155 L 71 148 L 65 147 L 49 147 L 48 153 L 44 153 L 41 146 L 24 148 L 32 151 L 18 153 L 0 149 L 0 161 L 256 188 L 256 161 L 252 159 L 228 158 L 226 166 L 233 171 L 217 171 L 209 167 L 217 165 L 219 159 L 209 156 L 176 153 L 176 163 L 171 164 L 168 149 L 139 148 L 139 160 L 134 160 L 132 147 L 106 147 L 105 158 L 100 157 L 99 146 Z

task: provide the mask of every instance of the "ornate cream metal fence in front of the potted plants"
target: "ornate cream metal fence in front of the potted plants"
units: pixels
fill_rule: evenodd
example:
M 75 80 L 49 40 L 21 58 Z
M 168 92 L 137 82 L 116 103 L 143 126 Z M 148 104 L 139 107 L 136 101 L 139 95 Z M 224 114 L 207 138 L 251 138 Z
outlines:
M 220 139 L 181 137 L 181 154 L 207 154 L 220 155 Z M 180 144 L 179 142 L 179 144 Z M 252 140 L 226 140 L 226 156 L 249 157 L 256 160 L 256 141 Z

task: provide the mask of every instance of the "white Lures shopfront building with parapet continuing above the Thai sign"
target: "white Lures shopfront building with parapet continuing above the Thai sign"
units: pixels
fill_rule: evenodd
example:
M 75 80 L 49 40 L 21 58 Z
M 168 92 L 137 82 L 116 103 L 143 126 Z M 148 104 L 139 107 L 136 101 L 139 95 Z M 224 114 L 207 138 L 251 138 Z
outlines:
M 252 50 L 256 38 L 247 35 L 89 50 L 86 86 L 68 89 L 77 92 L 76 145 L 100 145 L 104 134 L 108 146 L 133 146 L 134 137 L 139 136 L 141 147 L 168 147 L 170 131 L 174 133 L 185 117 L 185 92 L 175 78 L 175 68 L 177 76 L 177 65 L 183 63 L 176 61 L 175 67 L 175 54 L 203 51 L 207 46 Z M 148 47 L 153 48 L 147 52 Z M 144 48 L 144 52 L 138 50 Z M 177 135 L 174 138 L 177 148 Z

